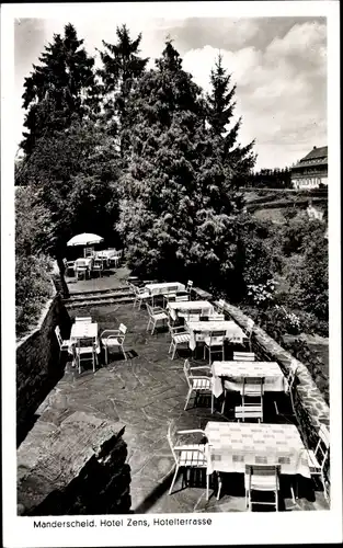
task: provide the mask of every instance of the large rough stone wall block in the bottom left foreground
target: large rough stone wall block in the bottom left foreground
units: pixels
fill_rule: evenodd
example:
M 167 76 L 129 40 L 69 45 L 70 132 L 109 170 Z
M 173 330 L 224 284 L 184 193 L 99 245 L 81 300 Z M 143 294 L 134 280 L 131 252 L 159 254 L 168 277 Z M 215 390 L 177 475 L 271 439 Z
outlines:
M 80 411 L 43 419 L 18 449 L 18 514 L 128 514 L 125 427 Z

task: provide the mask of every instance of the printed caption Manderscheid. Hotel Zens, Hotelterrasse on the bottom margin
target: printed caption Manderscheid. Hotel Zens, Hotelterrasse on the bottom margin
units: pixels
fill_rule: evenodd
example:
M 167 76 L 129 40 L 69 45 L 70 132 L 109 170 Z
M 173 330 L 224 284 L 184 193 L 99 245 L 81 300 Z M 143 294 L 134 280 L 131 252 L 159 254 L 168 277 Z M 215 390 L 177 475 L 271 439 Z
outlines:
M 64 520 L 64 521 L 44 521 L 34 520 L 34 528 L 65 528 L 65 527 L 150 527 L 152 526 L 164 526 L 164 525 L 211 525 L 211 520 L 209 517 L 190 517 L 190 518 L 160 518 L 153 517 L 150 520 L 134 520 L 132 517 L 126 517 L 122 520 Z

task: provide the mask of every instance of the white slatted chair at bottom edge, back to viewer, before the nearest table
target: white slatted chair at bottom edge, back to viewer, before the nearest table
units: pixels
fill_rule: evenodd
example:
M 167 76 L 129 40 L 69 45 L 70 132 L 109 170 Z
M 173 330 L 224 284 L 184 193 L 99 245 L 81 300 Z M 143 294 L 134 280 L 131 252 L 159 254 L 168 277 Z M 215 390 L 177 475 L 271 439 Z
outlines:
M 245 507 L 252 511 L 253 504 L 267 504 L 275 506 L 278 512 L 278 491 L 279 491 L 279 465 L 245 465 L 244 487 L 245 487 Z M 253 491 L 271 491 L 274 493 L 273 502 L 258 502 L 252 500 Z

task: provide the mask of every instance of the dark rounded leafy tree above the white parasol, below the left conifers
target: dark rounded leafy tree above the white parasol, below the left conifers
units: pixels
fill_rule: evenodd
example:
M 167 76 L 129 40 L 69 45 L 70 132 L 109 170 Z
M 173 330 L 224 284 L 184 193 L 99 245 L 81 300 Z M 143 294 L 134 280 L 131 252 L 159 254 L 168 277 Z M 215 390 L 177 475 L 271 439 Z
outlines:
M 23 168 L 25 184 L 44 209 L 41 249 L 61 259 L 79 232 L 113 237 L 117 216 L 117 160 L 113 139 L 92 122 L 39 139 Z

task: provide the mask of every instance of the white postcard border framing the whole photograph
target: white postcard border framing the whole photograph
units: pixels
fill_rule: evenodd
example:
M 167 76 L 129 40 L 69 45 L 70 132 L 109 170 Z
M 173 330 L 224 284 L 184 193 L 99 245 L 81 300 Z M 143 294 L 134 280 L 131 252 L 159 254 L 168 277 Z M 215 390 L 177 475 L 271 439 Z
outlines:
M 328 124 L 329 124 L 329 249 L 330 249 L 330 385 L 332 509 L 329 512 L 276 514 L 180 514 L 180 518 L 210 517 L 209 527 L 139 527 L 87 529 L 33 529 L 33 518 L 16 516 L 15 464 L 15 340 L 14 340 L 14 208 L 11 138 L 13 90 L 13 20 L 15 18 L 108 18 L 111 13 L 133 19 L 187 16 L 327 16 L 328 18 Z M 2 447 L 4 546 L 170 546 L 219 544 L 319 544 L 342 541 L 342 418 L 341 418 L 341 286 L 340 286 L 340 79 L 339 2 L 158 2 L 89 4 L 4 4 L 1 9 L 1 275 L 2 275 Z M 290 83 L 291 85 L 291 83 Z M 289 105 L 291 107 L 291 105 Z M 173 514 L 156 514 L 172 518 Z M 141 516 L 153 520 L 152 514 Z M 103 516 L 108 518 L 108 516 Z M 115 516 L 119 517 L 119 516 Z M 137 518 L 139 516 L 136 516 Z M 81 520 L 81 516 L 78 516 Z M 82 516 L 92 518 L 92 516 Z M 52 518 L 52 521 L 54 521 Z M 100 521 L 101 516 L 96 516 Z

